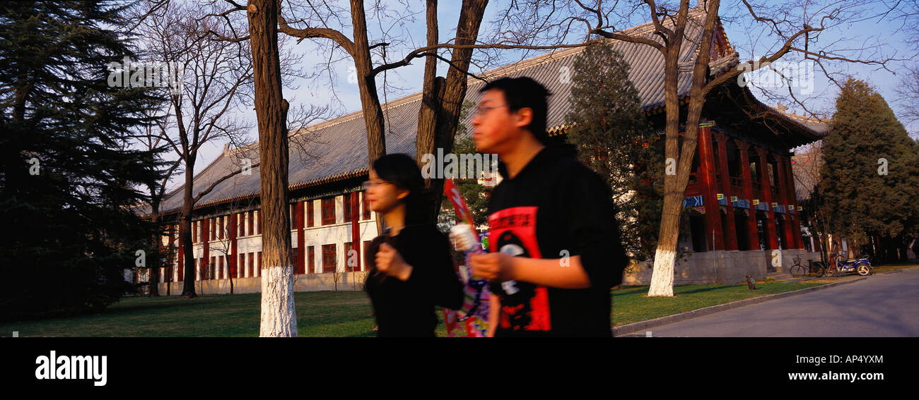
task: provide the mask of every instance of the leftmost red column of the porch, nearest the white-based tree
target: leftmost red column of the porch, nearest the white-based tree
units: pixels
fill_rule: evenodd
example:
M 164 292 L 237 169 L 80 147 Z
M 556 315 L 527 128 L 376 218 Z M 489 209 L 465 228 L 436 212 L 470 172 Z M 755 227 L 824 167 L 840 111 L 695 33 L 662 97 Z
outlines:
M 724 236 L 721 233 L 721 215 L 718 199 L 718 184 L 715 181 L 715 154 L 711 145 L 711 128 L 698 128 L 699 183 L 702 184 L 705 199 L 705 236 L 709 242 L 709 251 L 724 250 Z M 712 232 L 715 242 L 711 243 Z

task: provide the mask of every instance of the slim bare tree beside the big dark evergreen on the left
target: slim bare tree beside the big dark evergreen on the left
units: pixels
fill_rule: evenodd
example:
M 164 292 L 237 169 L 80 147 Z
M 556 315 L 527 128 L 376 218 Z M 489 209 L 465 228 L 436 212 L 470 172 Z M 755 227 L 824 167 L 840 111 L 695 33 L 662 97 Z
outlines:
M 227 172 L 210 187 L 195 194 L 194 175 L 199 149 L 215 139 L 241 143 L 249 126 L 233 116 L 233 110 L 251 96 L 252 66 L 244 46 L 227 46 L 204 39 L 202 32 L 220 29 L 221 23 L 206 17 L 199 5 L 168 4 L 143 16 L 138 33 L 148 49 L 147 61 L 164 62 L 179 76 L 169 85 L 170 109 L 160 138 L 185 165 L 180 229 L 185 251 L 185 283 L 182 295 L 195 297 L 191 218 L 195 204 L 218 183 L 243 171 Z M 257 166 L 253 165 L 253 167 Z

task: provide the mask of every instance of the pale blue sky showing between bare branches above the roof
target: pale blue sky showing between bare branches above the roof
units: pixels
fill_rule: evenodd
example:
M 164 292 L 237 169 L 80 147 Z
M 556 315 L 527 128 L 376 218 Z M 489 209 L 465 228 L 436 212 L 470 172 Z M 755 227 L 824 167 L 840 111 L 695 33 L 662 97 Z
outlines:
M 368 30 L 370 32 L 370 42 L 372 44 L 380 40 L 391 41 L 391 39 L 397 38 L 405 39 L 406 43 L 402 46 L 397 47 L 393 45 L 391 53 L 396 54 L 388 54 L 386 58 L 386 61 L 394 61 L 401 59 L 405 50 L 422 47 L 424 45 L 424 2 L 420 0 L 393 0 L 384 1 L 383 3 L 391 7 L 391 12 L 403 14 L 403 19 L 397 23 L 391 23 L 390 18 L 369 15 Z M 459 18 L 459 2 L 451 1 L 443 3 L 444 4 L 439 6 L 437 13 L 439 36 L 441 40 L 454 36 L 456 21 Z M 485 22 L 482 24 L 482 32 L 488 32 L 494 28 L 491 21 L 498 16 L 498 13 L 505 9 L 507 3 L 508 1 L 506 0 L 490 2 L 485 11 Z M 767 6 L 784 4 L 787 4 L 787 2 L 766 3 Z M 405 10 L 414 10 L 415 13 L 412 15 Z M 883 16 L 876 17 L 883 11 L 884 9 L 881 5 L 861 10 L 861 13 L 857 16 L 859 20 L 856 22 L 846 22 L 841 26 L 823 32 L 819 42 L 811 45 L 813 46 L 811 50 L 826 49 L 826 46 L 829 46 L 831 49 L 868 49 L 868 52 L 862 51 L 860 54 L 855 51 L 848 51 L 845 52 L 845 54 L 864 59 L 898 59 L 897 61 L 888 62 L 886 66 L 887 70 L 879 66 L 861 63 L 827 62 L 825 65 L 830 72 L 834 73 L 837 79 L 843 78 L 844 74 L 851 74 L 858 79 L 870 83 L 879 94 L 884 96 L 894 112 L 899 115 L 899 113 L 902 112 L 902 101 L 900 100 L 901 95 L 897 93 L 897 90 L 901 87 L 905 68 L 909 65 L 919 63 L 919 58 L 917 58 L 919 50 L 913 49 L 906 44 L 905 35 L 902 31 L 899 31 L 899 28 L 902 27 L 901 20 L 891 21 L 890 16 L 888 16 L 888 18 Z M 731 41 L 734 49 L 740 54 L 741 61 L 756 59 L 760 56 L 770 54 L 772 50 L 775 50 L 777 43 L 780 41 L 774 37 L 769 37 L 766 25 L 762 23 L 751 24 L 749 17 L 736 17 L 738 15 L 748 16 L 740 0 L 722 1 L 720 16 L 722 17 L 728 39 Z M 631 18 L 635 21 L 641 21 L 642 18 L 646 17 L 643 15 L 633 15 Z M 383 25 L 384 20 L 386 21 L 386 25 Z M 919 21 L 913 21 L 913 23 L 919 23 Z M 345 29 L 348 37 L 351 36 L 348 33 L 350 32 L 349 29 L 349 27 Z M 380 32 L 383 31 L 389 32 L 389 36 L 384 37 L 380 35 Z M 583 39 L 583 37 L 581 39 Z M 573 43 L 577 41 L 580 40 L 574 37 L 568 38 L 568 42 Z M 321 69 L 323 64 L 328 62 L 330 58 L 330 53 L 327 49 L 323 49 L 322 46 L 317 46 L 309 40 L 303 40 L 301 43 L 291 44 L 291 46 L 292 50 L 303 55 L 301 68 L 306 72 L 313 72 Z M 398 51 L 400 49 L 403 51 Z M 491 62 L 485 70 L 519 61 L 523 58 L 533 57 L 543 52 L 544 51 L 539 50 L 505 50 L 498 53 L 499 58 Z M 324 72 L 322 77 L 312 80 L 298 80 L 293 84 L 294 87 L 284 88 L 283 94 L 285 98 L 289 99 L 291 106 L 331 106 L 333 110 L 332 117 L 337 117 L 360 109 L 360 99 L 357 83 L 353 76 L 354 69 L 352 61 L 344 57 L 344 53 L 340 50 L 334 53 L 332 58 L 336 59 L 336 61 L 332 62 L 332 68 L 328 72 Z M 839 93 L 837 86 L 827 79 L 823 72 L 815 66 L 810 67 L 812 72 L 808 73 L 809 64 L 801 63 L 800 57 L 797 56 L 797 54 L 791 54 L 783 58 L 783 60 L 786 60 L 787 63 L 784 65 L 777 64 L 779 67 L 790 66 L 791 68 L 797 68 L 797 71 L 802 71 L 801 73 L 796 72 L 789 75 L 797 77 L 797 79 L 795 79 L 797 86 L 792 89 L 795 96 L 807 106 L 811 112 L 818 116 L 823 116 L 824 114 L 832 116 L 835 97 Z M 381 59 L 379 56 L 374 58 L 375 65 L 380 61 Z M 423 67 L 424 61 L 417 59 L 411 65 L 388 72 L 385 76 L 386 84 L 380 86 L 380 101 L 385 102 L 387 100 L 402 97 L 403 95 L 420 92 L 424 75 Z M 473 72 L 476 71 L 478 70 L 473 67 Z M 349 74 L 351 75 L 351 79 L 349 79 Z M 445 63 L 439 63 L 438 74 L 446 74 Z M 789 106 L 788 112 L 796 112 L 799 115 L 804 113 L 801 106 L 794 105 L 790 100 L 788 96 L 789 89 L 787 87 L 770 87 L 768 84 L 770 82 L 769 75 L 760 73 L 758 76 L 760 76 L 760 78 L 752 82 L 754 85 L 752 90 L 760 101 L 772 106 L 775 106 L 777 101 L 781 101 L 783 105 Z M 773 78 L 775 76 L 776 75 L 772 75 Z M 382 78 L 383 76 L 380 75 L 378 81 L 383 81 Z M 330 82 L 331 86 L 334 87 L 334 91 L 330 90 Z M 772 82 L 777 81 L 773 80 Z M 809 90 L 811 86 L 812 90 Z M 757 87 L 759 89 L 757 89 Z M 764 90 L 766 93 L 763 92 Z M 251 106 L 236 110 L 235 112 L 237 116 L 248 119 L 251 125 L 255 127 L 255 111 L 252 110 Z M 906 124 L 904 123 L 904 125 Z M 919 124 L 909 124 L 906 125 L 906 128 L 911 132 L 913 138 L 919 138 Z M 255 128 L 253 128 L 253 131 L 249 135 L 249 140 L 254 141 L 255 139 L 257 139 L 257 132 L 255 132 Z M 220 154 L 223 145 L 224 141 L 215 140 L 203 146 L 199 153 L 199 161 L 196 170 L 201 171 L 204 166 L 209 164 L 210 161 L 213 161 Z M 170 189 L 173 189 L 182 182 L 184 182 L 184 178 L 176 176 L 168 186 Z

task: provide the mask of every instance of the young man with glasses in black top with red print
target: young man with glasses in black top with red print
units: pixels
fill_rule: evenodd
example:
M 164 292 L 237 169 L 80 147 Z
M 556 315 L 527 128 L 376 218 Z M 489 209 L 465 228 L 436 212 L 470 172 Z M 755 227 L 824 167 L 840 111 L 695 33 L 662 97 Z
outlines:
M 477 150 L 496 153 L 504 180 L 489 202 L 489 254 L 472 273 L 491 283 L 494 336 L 610 336 L 609 288 L 628 258 L 604 181 L 570 145 L 546 145 L 549 92 L 502 78 L 480 91 Z

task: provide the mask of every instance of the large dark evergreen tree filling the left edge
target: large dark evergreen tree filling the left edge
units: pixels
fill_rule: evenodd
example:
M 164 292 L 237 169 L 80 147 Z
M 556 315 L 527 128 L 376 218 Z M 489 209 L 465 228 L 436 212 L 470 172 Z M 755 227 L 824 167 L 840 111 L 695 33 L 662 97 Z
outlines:
M 145 89 L 108 86 L 132 57 L 120 7 L 12 2 L 0 9 L 0 318 L 99 311 L 130 291 L 124 269 L 152 236 L 134 189 L 152 181 L 156 151 L 127 149 Z

